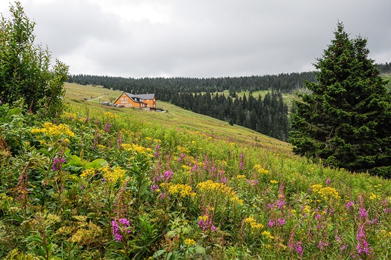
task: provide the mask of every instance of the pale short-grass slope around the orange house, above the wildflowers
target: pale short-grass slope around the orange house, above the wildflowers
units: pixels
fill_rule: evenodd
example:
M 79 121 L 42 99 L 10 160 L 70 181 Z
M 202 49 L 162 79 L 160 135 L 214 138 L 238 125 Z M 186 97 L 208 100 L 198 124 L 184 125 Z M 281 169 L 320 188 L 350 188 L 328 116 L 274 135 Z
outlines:
M 121 116 L 138 117 L 138 120 L 141 122 L 156 122 L 156 124 L 161 124 L 165 127 L 200 131 L 214 136 L 215 138 L 226 138 L 228 140 L 231 139 L 233 141 L 247 143 L 249 145 L 260 145 L 272 150 L 281 150 L 287 154 L 289 154 L 291 150 L 290 145 L 281 140 L 270 138 L 256 131 L 239 127 L 237 125 L 230 126 L 228 122 L 216 120 L 205 115 L 199 115 L 167 102 L 157 100 L 156 106 L 158 108 L 163 108 L 168 111 L 168 113 L 149 113 L 144 110 L 133 108 L 111 108 L 99 103 L 99 100 L 115 101 L 121 95 L 121 91 L 71 83 L 66 83 L 65 89 L 66 99 L 72 104 L 71 106 L 76 108 L 75 110 L 84 110 L 84 112 L 87 112 L 91 109 L 101 110 L 101 108 L 103 108 L 107 111 L 113 111 Z M 94 93 L 94 96 L 92 96 L 93 99 L 90 99 L 91 93 Z M 87 97 L 87 101 L 84 101 L 84 97 Z

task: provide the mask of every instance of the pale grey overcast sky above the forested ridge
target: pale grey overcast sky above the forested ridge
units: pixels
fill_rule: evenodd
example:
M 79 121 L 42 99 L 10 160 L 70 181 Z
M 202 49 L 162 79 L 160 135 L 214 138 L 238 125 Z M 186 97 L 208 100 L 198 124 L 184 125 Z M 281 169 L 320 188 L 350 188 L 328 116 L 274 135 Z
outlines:
M 9 17 L 10 3 L 0 0 Z M 312 71 L 343 22 L 391 62 L 390 0 L 21 0 L 72 74 L 225 77 Z M 11 1 L 13 4 L 13 1 Z

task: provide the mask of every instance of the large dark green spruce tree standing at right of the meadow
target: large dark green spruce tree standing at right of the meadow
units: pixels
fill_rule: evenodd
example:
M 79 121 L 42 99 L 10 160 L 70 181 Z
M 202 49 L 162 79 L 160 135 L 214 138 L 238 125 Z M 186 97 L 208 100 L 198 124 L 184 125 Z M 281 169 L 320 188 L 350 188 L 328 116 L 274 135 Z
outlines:
M 350 39 L 342 23 L 317 59 L 316 82 L 295 101 L 290 143 L 296 154 L 331 166 L 391 177 L 391 94 L 367 39 Z

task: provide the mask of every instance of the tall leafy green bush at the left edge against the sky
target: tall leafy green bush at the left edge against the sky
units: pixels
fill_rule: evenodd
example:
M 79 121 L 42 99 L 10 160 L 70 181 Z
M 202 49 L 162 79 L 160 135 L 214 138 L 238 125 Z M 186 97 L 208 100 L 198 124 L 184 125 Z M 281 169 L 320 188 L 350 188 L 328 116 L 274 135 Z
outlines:
M 10 14 L 0 22 L 0 100 L 23 99 L 32 112 L 55 115 L 63 108 L 68 66 L 59 60 L 51 66 L 49 50 L 34 44 L 35 23 L 20 2 L 10 6 Z

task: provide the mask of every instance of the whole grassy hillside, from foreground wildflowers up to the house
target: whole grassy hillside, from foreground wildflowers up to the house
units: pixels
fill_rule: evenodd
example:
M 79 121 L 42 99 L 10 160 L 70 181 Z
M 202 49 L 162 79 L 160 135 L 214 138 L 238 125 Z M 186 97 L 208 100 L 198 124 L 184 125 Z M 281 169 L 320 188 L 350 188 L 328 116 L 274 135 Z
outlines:
M 388 259 L 389 180 L 168 103 L 66 89 L 54 121 L 0 105 L 1 259 Z

